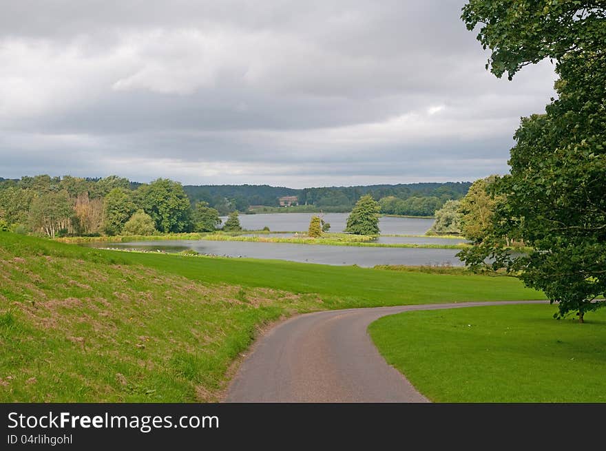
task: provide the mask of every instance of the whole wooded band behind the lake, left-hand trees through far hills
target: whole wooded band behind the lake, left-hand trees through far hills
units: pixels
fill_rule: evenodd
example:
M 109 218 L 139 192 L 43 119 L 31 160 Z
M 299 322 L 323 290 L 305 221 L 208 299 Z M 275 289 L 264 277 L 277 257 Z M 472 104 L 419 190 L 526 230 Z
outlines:
M 200 231 L 214 229 L 215 220 L 208 220 L 209 213 L 209 218 L 217 218 L 233 211 L 347 212 L 366 194 L 379 202 L 385 214 L 433 216 L 446 201 L 465 196 L 470 185 L 447 182 L 291 189 L 182 186 L 165 178 L 138 183 L 118 176 L 0 178 L 0 229 L 52 237 L 118 235 L 132 219 L 149 222 L 149 230 L 159 233 Z M 280 208 L 283 196 L 296 196 L 298 206 Z M 220 223 L 218 218 L 216 221 Z

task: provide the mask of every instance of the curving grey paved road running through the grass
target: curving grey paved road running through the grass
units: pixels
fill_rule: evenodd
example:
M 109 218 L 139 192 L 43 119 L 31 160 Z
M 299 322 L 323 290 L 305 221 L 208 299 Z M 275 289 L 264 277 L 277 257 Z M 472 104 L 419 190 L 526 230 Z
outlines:
M 389 366 L 366 328 L 412 310 L 546 301 L 461 302 L 309 313 L 272 328 L 244 359 L 227 402 L 428 402 Z

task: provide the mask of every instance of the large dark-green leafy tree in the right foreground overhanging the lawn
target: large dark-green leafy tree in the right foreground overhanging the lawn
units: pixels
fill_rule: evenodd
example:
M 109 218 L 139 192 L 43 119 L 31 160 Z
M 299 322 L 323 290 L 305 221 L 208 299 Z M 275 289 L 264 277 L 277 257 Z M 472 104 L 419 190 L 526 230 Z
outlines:
M 506 197 L 492 232 L 461 258 L 472 267 L 492 258 L 558 302 L 556 317 L 576 311 L 583 322 L 606 292 L 606 3 L 471 0 L 462 18 L 480 26 L 496 76 L 548 58 L 560 78 L 558 98 L 514 136 L 510 174 L 492 187 Z M 507 238 L 532 251 L 511 253 Z

